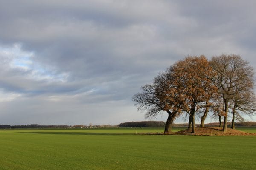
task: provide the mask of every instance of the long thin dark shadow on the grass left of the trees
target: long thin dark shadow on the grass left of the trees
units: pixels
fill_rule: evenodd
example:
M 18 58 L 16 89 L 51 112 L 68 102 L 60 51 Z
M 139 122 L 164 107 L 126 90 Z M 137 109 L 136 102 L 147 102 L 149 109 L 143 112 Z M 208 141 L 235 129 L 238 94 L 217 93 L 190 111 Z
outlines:
M 32 134 L 52 134 L 52 135 L 131 135 L 134 133 L 94 133 L 94 132 L 17 132 Z

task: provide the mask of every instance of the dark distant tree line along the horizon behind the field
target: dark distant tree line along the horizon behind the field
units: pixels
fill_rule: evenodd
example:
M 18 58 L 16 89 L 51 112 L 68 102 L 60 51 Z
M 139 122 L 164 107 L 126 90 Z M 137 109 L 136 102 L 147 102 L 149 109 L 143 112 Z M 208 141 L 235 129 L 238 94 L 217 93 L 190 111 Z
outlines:
M 195 124 L 199 127 L 200 124 Z M 205 126 L 218 126 L 219 122 L 208 123 Z M 230 127 L 231 122 L 227 125 Z M 256 122 L 236 122 L 236 126 L 256 126 Z M 0 129 L 67 129 L 67 128 L 111 128 L 111 127 L 164 127 L 165 122 L 163 121 L 140 121 L 140 122 L 124 122 L 119 125 L 0 125 Z M 173 124 L 173 127 L 187 127 L 188 123 Z

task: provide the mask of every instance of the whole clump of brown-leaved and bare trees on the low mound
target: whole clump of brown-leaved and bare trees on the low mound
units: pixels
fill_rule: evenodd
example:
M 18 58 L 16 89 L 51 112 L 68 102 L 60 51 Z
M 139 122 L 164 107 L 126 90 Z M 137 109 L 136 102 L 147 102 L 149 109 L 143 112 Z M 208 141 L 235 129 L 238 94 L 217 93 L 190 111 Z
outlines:
M 208 113 L 219 119 L 223 131 L 227 119 L 244 121 L 244 115 L 256 114 L 256 96 L 253 91 L 253 68 L 241 56 L 230 54 L 212 57 L 189 56 L 158 74 L 152 84 L 141 87 L 132 98 L 138 110 L 146 111 L 147 118 L 166 112 L 168 118 L 164 133 L 171 132 L 173 121 L 189 116 L 188 128 L 195 133 L 195 116 L 201 118 L 200 127 Z

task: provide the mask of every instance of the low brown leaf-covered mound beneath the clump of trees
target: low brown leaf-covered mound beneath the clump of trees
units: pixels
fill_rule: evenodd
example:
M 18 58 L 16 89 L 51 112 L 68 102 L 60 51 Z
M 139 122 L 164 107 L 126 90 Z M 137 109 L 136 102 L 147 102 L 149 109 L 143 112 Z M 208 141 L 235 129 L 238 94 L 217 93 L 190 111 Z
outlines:
M 196 127 L 195 133 L 191 133 L 191 129 L 185 129 L 173 133 L 140 133 L 140 134 L 157 134 L 157 135 L 201 135 L 201 136 L 246 136 L 256 135 L 256 133 L 247 133 L 240 130 L 227 128 L 226 132 L 222 131 L 222 127 Z

